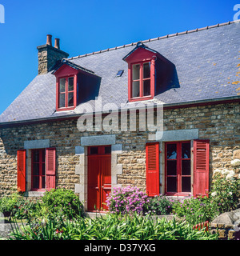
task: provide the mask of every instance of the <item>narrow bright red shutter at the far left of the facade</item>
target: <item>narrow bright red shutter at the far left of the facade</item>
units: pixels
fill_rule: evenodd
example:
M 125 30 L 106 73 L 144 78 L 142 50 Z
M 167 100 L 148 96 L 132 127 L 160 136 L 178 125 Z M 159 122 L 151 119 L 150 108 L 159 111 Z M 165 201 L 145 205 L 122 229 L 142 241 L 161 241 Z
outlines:
M 18 192 L 26 191 L 26 150 L 18 150 Z

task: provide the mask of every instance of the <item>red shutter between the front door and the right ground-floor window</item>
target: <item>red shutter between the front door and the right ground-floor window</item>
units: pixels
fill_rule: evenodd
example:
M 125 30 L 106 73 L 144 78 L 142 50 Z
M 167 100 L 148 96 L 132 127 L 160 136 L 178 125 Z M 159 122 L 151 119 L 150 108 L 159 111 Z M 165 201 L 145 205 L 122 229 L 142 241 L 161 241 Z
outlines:
M 159 194 L 159 142 L 146 143 L 146 193 Z

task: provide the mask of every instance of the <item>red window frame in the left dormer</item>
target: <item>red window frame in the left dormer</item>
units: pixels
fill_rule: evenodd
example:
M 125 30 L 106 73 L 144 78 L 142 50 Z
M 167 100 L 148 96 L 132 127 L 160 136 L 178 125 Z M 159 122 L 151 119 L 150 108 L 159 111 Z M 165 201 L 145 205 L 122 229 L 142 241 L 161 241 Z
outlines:
M 68 83 L 69 78 L 74 78 L 74 90 L 68 90 Z M 60 80 L 65 79 L 65 91 L 60 92 Z M 68 104 L 68 98 L 69 94 L 74 94 L 74 105 L 69 106 Z M 65 94 L 65 106 L 60 107 L 60 95 Z M 77 106 L 77 75 L 76 74 L 70 74 L 67 76 L 62 76 L 57 78 L 57 111 L 62 110 L 74 110 L 74 108 Z

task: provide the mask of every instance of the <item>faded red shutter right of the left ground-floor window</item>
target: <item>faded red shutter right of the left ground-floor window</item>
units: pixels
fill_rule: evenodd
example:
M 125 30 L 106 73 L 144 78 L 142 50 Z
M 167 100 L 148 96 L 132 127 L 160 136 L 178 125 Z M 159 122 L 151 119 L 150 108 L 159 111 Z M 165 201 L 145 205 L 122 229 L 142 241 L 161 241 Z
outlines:
M 54 189 L 56 173 L 56 149 L 46 149 L 46 190 Z

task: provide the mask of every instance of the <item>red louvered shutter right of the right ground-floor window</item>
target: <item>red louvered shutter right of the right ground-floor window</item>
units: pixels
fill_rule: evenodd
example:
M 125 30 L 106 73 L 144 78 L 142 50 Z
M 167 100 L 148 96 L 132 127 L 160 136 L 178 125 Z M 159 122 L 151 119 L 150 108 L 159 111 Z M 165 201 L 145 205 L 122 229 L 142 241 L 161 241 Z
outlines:
M 194 140 L 194 196 L 209 190 L 209 140 Z

